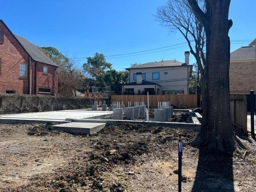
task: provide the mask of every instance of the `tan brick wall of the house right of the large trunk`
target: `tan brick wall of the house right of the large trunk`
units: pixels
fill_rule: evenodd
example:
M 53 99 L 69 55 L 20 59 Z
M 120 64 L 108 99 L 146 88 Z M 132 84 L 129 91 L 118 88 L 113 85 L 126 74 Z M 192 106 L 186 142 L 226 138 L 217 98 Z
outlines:
M 231 94 L 249 93 L 255 90 L 255 61 L 230 62 L 229 90 Z

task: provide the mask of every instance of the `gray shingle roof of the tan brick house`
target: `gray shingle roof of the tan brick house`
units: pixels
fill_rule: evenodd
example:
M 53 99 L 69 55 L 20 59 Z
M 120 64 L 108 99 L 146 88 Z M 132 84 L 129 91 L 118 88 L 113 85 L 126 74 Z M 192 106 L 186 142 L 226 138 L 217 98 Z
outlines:
M 230 53 L 230 60 L 255 59 L 255 46 L 241 47 Z

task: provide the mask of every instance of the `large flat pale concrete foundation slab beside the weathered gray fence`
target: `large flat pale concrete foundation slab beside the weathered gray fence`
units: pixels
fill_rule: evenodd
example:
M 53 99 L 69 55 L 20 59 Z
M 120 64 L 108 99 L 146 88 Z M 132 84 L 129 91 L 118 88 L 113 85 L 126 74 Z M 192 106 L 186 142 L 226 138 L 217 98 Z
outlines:
M 112 111 L 62 110 L 37 113 L 20 113 L 0 116 L 0 123 L 27 122 L 63 122 L 70 119 L 103 119 L 113 116 Z

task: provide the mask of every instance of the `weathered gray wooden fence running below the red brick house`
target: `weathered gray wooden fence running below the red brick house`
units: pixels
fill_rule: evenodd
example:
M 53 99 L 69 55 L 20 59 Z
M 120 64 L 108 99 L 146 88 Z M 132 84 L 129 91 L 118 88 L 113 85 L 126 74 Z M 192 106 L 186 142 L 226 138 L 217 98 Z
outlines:
M 106 100 L 102 98 L 0 95 L 0 114 L 91 108 L 94 101 L 101 106 Z

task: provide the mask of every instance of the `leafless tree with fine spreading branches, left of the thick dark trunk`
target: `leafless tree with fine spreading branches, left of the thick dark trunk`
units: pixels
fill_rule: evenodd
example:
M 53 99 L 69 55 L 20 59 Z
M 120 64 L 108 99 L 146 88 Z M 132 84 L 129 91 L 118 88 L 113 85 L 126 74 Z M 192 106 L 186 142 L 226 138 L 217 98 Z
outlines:
M 200 1 L 205 11 L 205 4 Z M 178 30 L 188 42 L 191 54 L 195 57 L 200 72 L 205 65 L 205 31 L 202 23 L 192 12 L 187 0 L 169 0 L 158 7 L 156 19 L 171 32 Z M 203 78 L 203 75 L 202 75 Z

